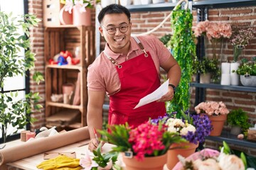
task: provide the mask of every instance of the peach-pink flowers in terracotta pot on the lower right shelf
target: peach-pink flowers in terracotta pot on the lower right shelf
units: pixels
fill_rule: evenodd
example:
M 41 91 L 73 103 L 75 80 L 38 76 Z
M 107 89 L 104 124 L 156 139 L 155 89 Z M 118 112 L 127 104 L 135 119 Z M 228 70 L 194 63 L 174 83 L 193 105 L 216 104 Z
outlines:
M 229 113 L 228 108 L 222 101 L 208 101 L 201 102 L 195 107 L 196 113 L 206 113 L 209 116 L 213 130 L 210 132 L 210 136 L 219 136 L 223 130 L 225 120 Z

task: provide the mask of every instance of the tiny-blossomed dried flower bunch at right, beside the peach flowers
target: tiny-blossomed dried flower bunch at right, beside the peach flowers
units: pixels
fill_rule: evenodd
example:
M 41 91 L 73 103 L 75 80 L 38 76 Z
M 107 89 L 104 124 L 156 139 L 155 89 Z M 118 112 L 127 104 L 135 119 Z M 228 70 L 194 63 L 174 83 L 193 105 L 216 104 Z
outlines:
M 238 26 L 234 26 L 232 30 L 233 33 L 231 35 L 230 42 L 234 47 L 234 62 L 238 62 L 238 57 L 241 55 L 242 49 L 244 49 L 250 40 L 254 38 L 256 31 L 255 28 L 241 28 Z

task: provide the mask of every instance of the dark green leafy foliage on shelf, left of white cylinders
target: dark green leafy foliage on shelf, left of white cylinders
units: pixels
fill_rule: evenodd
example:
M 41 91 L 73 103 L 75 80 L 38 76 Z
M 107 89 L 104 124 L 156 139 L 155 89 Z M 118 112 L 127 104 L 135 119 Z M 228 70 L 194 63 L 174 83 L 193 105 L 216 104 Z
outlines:
M 203 60 L 194 60 L 192 66 L 193 73 L 211 74 L 213 81 L 218 81 L 220 77 L 220 69 L 218 67 L 218 59 L 208 59 L 203 57 Z

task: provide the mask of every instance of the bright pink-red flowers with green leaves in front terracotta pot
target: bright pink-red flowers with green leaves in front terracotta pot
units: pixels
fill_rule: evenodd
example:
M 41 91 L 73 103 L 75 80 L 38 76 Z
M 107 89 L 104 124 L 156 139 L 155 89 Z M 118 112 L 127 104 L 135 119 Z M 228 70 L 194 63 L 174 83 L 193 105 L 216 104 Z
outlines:
M 126 169 L 163 169 L 169 147 L 183 142 L 180 135 L 169 132 L 162 123 L 142 123 L 137 128 L 110 125 L 109 130 L 99 130 L 102 140 L 115 145 L 112 152 L 122 152 Z M 140 167 L 139 167 L 140 166 Z

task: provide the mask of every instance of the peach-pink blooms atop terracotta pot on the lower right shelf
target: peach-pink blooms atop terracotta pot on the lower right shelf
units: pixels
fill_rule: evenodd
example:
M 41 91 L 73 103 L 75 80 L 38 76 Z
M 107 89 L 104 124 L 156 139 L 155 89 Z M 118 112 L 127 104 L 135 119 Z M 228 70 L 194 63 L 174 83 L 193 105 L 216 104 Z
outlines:
M 201 102 L 195 107 L 196 113 L 206 113 L 207 115 L 227 115 L 229 113 L 225 103 L 222 101 Z

